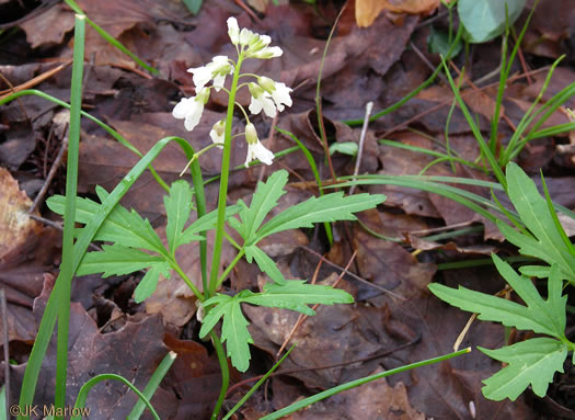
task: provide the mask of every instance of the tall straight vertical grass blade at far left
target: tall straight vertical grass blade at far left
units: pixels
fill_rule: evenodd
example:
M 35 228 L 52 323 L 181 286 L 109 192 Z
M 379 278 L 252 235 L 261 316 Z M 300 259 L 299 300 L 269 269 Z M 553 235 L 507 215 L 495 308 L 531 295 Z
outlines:
M 76 222 L 76 193 L 78 185 L 78 155 L 80 152 L 80 110 L 82 109 L 82 75 L 84 68 L 83 15 L 76 15 L 72 82 L 70 88 L 70 130 L 68 162 L 66 166 L 66 207 L 64 211 L 62 262 L 60 264 L 60 290 L 58 291 L 58 342 L 56 355 L 56 397 L 54 405 L 64 409 L 68 372 L 68 330 L 70 322 L 70 292 L 73 266 L 73 234 Z M 61 419 L 61 416 L 56 416 Z

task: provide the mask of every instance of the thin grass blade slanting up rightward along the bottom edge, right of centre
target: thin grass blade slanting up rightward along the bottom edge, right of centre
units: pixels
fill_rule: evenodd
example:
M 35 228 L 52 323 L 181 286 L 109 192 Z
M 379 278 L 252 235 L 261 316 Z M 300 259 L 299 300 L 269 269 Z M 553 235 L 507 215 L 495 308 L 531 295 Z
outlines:
M 471 351 L 471 348 L 467 348 L 467 349 L 463 349 L 463 350 L 460 350 L 460 351 L 457 351 L 457 352 L 453 352 L 453 353 L 449 353 L 449 354 L 446 354 L 446 355 L 442 355 L 442 356 L 439 356 L 439 357 L 428 359 L 428 360 L 425 360 L 425 361 L 422 361 L 422 362 L 417 362 L 417 363 L 411 363 L 411 364 L 407 364 L 405 366 L 392 368 L 390 371 L 381 372 L 381 373 L 378 373 L 378 374 L 375 374 L 375 375 L 371 375 L 371 376 L 367 376 L 367 377 L 364 377 L 364 378 L 360 378 L 360 379 L 352 381 L 352 382 L 348 382 L 347 384 L 343 384 L 343 385 L 336 386 L 334 388 L 326 389 L 323 393 L 317 394 L 314 396 L 311 396 L 311 397 L 308 397 L 308 398 L 303 398 L 303 399 L 301 399 L 301 400 L 299 400 L 297 402 L 294 402 L 294 404 L 287 406 L 286 408 L 283 408 L 281 410 L 278 410 L 278 411 L 273 412 L 271 415 L 264 416 L 260 420 L 277 420 L 277 419 L 280 419 L 284 416 L 288 416 L 288 415 L 290 415 L 292 412 L 301 410 L 301 409 L 303 409 L 303 408 L 306 408 L 308 406 L 311 406 L 314 402 L 321 401 L 322 399 L 325 399 L 325 398 L 331 397 L 333 395 L 340 394 L 340 393 L 342 393 L 344 390 L 352 389 L 352 388 L 355 388 L 357 386 L 367 384 L 369 382 L 377 381 L 377 379 L 380 379 L 380 378 L 386 377 L 386 376 L 394 375 L 396 373 L 410 371 L 410 370 L 416 368 L 416 367 L 427 366 L 427 365 L 430 365 L 430 364 L 434 364 L 434 363 L 444 362 L 444 361 L 449 360 L 451 357 L 457 357 L 459 355 L 469 353 L 470 351 Z

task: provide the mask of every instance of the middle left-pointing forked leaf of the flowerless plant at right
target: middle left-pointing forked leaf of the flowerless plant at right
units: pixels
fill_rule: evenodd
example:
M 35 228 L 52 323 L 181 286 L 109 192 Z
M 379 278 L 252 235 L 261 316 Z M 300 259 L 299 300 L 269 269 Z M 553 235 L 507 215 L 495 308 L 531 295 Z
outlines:
M 507 327 L 517 327 L 518 329 L 563 338 L 567 297 L 561 296 L 561 290 L 559 297 L 550 295 L 549 300 L 543 300 L 528 277 L 517 275 L 509 264 L 497 256 L 493 254 L 492 257 L 499 273 L 525 300 L 527 307 L 462 286 L 455 290 L 435 283 L 429 285 L 429 290 L 434 295 L 452 306 L 479 314 L 479 319 L 497 321 Z M 556 293 L 556 288 L 551 288 L 551 283 L 548 285 L 550 293 Z

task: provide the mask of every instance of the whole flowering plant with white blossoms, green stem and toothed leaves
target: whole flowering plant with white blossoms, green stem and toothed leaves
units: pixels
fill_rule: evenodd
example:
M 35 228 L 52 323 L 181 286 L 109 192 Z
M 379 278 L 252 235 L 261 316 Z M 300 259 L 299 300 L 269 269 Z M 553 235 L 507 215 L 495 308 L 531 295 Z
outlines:
M 248 112 L 235 103 L 237 91 L 241 88 L 249 89 L 252 97 L 249 111 L 252 114 L 260 114 L 263 111 L 268 117 L 274 117 L 277 112 L 284 111 L 285 106 L 291 106 L 292 103 L 291 89 L 284 83 L 264 76 L 240 72 L 245 59 L 272 59 L 283 54 L 279 47 L 269 46 L 269 36 L 260 35 L 246 29 L 240 31 L 234 18 L 228 20 L 228 33 L 238 52 L 237 60 L 226 56 L 216 56 L 206 66 L 189 69 L 188 71 L 193 73 L 196 95 L 182 99 L 173 109 L 173 116 L 184 120 L 185 128 L 193 130 L 202 118 L 211 89 L 223 90 L 229 95 L 227 117 L 217 122 L 209 133 L 214 145 L 196 152 L 193 159 L 196 163 L 195 168 L 199 168 L 197 158 L 203 152 L 215 146 L 222 149 L 218 207 L 211 213 L 200 212 L 202 205 L 197 189 L 198 185 L 202 188 L 203 183 L 194 181 L 196 189 L 193 189 L 186 181 L 175 181 L 170 188 L 169 195 L 164 197 L 168 216 L 168 240 L 164 245 L 147 219 L 134 209 L 128 211 L 118 205 L 112 211 L 94 238 L 108 243 L 103 246 L 102 251 L 87 253 L 78 270 L 80 275 L 103 273 L 104 276 L 124 275 L 146 270 L 135 292 L 137 302 L 142 302 L 153 294 L 160 275 L 169 277 L 175 271 L 183 279 L 200 303 L 200 310 L 198 310 L 198 318 L 203 322 L 200 337 L 209 336 L 220 356 L 223 386 L 216 407 L 216 417 L 228 384 L 228 367 L 223 351 L 220 351 L 222 350 L 221 342 L 226 343 L 227 355 L 231 357 L 233 366 L 243 372 L 250 365 L 249 344 L 253 340 L 246 328 L 249 321 L 242 314 L 242 304 L 287 308 L 313 315 L 314 311 L 308 305 L 353 303 L 353 297 L 342 290 L 307 284 L 302 280 L 286 280 L 276 263 L 257 243 L 269 235 L 287 229 L 312 227 L 317 223 L 354 220 L 356 219 L 354 213 L 372 208 L 384 201 L 383 195 L 344 196 L 343 192 L 336 192 L 321 197 L 311 197 L 269 218 L 267 215 L 285 194 L 285 185 L 288 182 L 286 171 L 276 171 L 265 183 L 258 183 L 250 205 L 241 200 L 234 205 L 227 205 L 231 130 L 235 105 L 245 117 L 244 138 L 249 146 L 245 166 L 248 167 L 256 159 L 266 164 L 272 164 L 274 160 L 274 154 L 260 141 Z M 226 88 L 228 76 L 232 78 L 229 89 Z M 252 81 L 240 84 L 240 78 L 244 77 L 252 78 Z M 194 175 L 194 170 L 192 172 Z M 108 195 L 102 188 L 97 188 L 96 193 L 101 203 Z M 194 196 L 196 206 L 193 203 Z M 62 214 L 65 198 L 53 197 L 48 205 L 56 213 Z M 88 223 L 101 211 L 101 206 L 102 204 L 89 198 L 78 198 L 77 222 Z M 194 209 L 197 211 L 198 217 L 189 224 L 188 220 Z M 243 242 L 232 242 L 238 253 L 233 261 L 220 272 L 221 246 L 227 236 L 225 235 L 226 228 L 235 230 Z M 202 282 L 189 279 L 180 266 L 175 252 L 179 247 L 193 241 L 197 241 L 200 246 L 202 241 L 206 240 L 205 232 L 210 229 L 216 230 L 216 237 L 209 279 L 207 274 L 204 275 Z M 261 271 L 269 276 L 272 283 L 258 293 L 249 290 L 241 291 L 234 296 L 217 293 L 230 271 L 242 258 L 245 258 L 249 263 L 255 261 Z M 205 251 L 203 259 L 207 264 Z M 214 328 L 220 320 L 222 321 L 221 336 L 218 337 Z

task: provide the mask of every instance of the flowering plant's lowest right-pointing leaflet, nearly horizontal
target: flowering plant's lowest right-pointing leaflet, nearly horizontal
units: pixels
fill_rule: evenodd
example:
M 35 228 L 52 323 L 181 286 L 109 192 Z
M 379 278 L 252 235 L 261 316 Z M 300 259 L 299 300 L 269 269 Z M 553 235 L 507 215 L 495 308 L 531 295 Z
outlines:
M 268 283 L 263 293 L 254 293 L 242 299 L 252 305 L 297 310 L 315 315 L 307 305 L 353 304 L 350 294 L 340 288 L 319 284 L 307 284 L 304 280 L 290 280 L 286 284 Z

